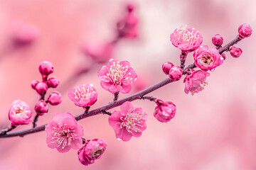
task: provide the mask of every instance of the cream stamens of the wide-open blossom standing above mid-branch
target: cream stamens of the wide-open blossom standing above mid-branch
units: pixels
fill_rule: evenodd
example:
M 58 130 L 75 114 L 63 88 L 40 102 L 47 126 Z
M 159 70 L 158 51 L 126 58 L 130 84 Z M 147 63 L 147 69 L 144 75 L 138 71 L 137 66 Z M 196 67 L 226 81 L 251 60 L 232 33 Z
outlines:
M 114 84 L 121 85 L 125 81 L 132 81 L 131 73 L 128 73 L 128 66 L 123 66 L 119 64 L 119 62 L 113 62 L 110 66 L 109 73 L 107 73 L 107 77 L 109 77 Z

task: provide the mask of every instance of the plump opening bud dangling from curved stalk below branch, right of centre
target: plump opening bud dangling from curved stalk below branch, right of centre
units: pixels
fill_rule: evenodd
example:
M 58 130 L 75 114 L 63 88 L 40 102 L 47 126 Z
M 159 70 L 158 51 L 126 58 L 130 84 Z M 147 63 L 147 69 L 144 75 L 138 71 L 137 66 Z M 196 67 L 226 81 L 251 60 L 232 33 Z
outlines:
M 154 117 L 162 123 L 169 122 L 176 113 L 176 106 L 171 101 L 156 101 Z

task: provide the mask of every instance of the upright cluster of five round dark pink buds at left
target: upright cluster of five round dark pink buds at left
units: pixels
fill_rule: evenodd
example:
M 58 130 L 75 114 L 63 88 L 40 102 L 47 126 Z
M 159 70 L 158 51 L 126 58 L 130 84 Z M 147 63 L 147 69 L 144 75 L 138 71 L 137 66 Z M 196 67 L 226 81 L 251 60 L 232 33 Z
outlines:
M 45 95 L 49 88 L 56 88 L 60 81 L 57 77 L 51 77 L 48 79 L 48 75 L 53 73 L 53 64 L 50 62 L 41 62 L 39 65 L 39 72 L 42 76 L 42 81 L 33 80 L 31 87 L 41 96 L 41 99 L 36 103 L 35 111 L 38 115 L 48 113 L 48 104 L 56 106 L 61 103 L 61 95 L 58 91 L 53 91 L 48 99 L 45 101 Z

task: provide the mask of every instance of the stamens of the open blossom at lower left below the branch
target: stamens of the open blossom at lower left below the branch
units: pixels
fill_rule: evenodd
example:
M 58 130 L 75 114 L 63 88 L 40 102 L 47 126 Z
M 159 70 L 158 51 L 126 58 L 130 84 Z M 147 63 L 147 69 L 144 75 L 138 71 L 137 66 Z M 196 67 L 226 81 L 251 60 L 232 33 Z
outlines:
M 53 127 L 53 129 L 54 137 L 52 137 L 52 140 L 53 143 L 58 143 L 58 147 L 63 145 L 62 149 L 64 149 L 66 146 L 71 144 L 72 140 L 75 140 L 75 130 L 70 130 L 67 124 L 60 125 L 59 123 L 58 128 Z

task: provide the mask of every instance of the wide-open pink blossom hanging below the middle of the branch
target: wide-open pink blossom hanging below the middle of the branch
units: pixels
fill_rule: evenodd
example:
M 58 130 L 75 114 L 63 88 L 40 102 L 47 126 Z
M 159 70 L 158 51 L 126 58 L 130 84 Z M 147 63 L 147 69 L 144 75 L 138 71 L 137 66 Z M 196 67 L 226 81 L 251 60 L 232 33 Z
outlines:
M 140 137 L 146 129 L 146 113 L 142 108 L 134 108 L 129 101 L 124 102 L 120 108 L 121 111 L 114 111 L 109 117 L 117 139 L 128 141 L 132 136 Z

